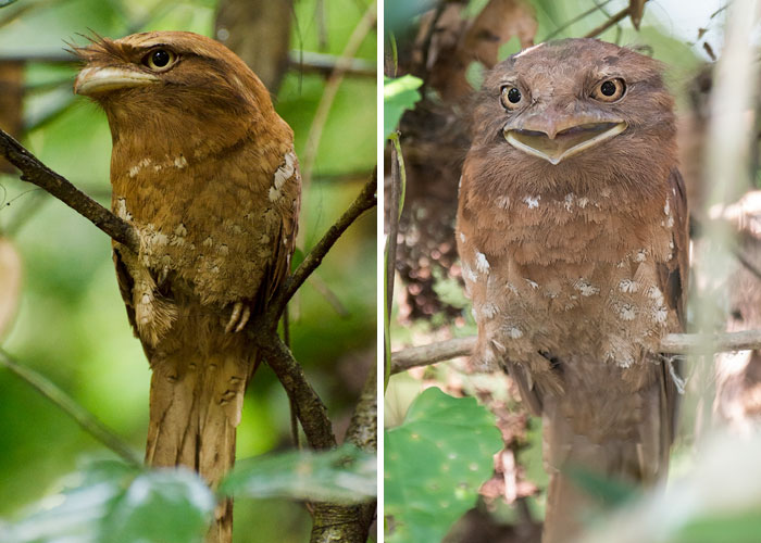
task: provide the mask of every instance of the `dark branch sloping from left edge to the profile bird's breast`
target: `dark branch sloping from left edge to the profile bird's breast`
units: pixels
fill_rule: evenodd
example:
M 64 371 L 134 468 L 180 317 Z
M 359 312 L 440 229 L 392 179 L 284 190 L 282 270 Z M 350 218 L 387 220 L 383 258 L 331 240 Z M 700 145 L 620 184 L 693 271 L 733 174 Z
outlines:
M 112 239 L 137 253 L 139 248 L 137 232 L 128 223 L 118 218 L 77 189 L 66 178 L 42 164 L 34 154 L 2 129 L 0 129 L 0 154 L 21 171 L 22 180 L 36 185 L 51 193 L 79 215 L 90 220 Z

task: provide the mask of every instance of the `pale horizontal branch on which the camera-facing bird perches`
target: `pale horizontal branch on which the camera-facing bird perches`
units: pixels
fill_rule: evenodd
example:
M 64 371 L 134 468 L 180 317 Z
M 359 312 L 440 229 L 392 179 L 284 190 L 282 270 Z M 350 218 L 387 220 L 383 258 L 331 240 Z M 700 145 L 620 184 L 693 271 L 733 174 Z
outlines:
M 471 336 L 402 349 L 391 355 L 391 374 L 469 356 L 475 345 L 476 338 Z M 708 342 L 699 333 L 670 333 L 661 340 L 659 351 L 665 354 L 712 354 L 756 349 L 761 349 L 761 330 L 715 333 Z

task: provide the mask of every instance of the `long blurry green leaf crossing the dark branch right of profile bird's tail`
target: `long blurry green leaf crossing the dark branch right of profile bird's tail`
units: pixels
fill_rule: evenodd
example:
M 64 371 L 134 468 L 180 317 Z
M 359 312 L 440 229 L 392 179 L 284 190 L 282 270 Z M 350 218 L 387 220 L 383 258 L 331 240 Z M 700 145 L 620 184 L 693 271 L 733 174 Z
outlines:
M 238 462 L 220 491 L 351 504 L 374 497 L 376 479 L 375 455 L 346 444 L 334 451 L 292 451 Z

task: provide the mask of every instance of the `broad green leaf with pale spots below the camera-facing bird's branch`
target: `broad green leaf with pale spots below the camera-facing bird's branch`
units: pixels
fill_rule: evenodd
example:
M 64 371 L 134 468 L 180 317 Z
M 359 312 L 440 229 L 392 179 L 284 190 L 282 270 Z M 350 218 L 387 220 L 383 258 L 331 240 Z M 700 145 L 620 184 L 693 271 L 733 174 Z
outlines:
M 494 470 L 502 446 L 494 416 L 473 397 L 429 388 L 385 435 L 386 541 L 440 541 Z

